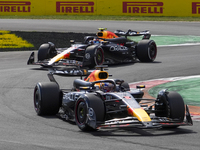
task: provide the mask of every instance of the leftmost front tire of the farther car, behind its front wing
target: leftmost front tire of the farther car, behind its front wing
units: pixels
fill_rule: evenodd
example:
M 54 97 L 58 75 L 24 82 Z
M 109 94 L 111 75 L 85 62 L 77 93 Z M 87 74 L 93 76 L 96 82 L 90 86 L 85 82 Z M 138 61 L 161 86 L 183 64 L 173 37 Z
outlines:
M 38 49 L 38 61 L 53 58 L 56 55 L 57 52 L 53 43 L 42 44 Z

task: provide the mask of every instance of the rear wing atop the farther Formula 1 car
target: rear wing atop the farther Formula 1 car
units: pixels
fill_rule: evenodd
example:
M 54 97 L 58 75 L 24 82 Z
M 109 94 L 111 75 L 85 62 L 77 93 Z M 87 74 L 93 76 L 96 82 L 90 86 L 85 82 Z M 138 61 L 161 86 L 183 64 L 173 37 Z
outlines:
M 116 30 L 114 31 L 114 33 L 117 36 L 125 36 L 127 38 L 127 36 L 141 36 L 143 35 L 142 39 L 149 39 L 151 37 L 151 34 L 149 32 L 149 30 L 145 30 L 145 31 L 133 31 L 131 29 L 129 29 L 127 32 L 122 31 L 122 30 Z

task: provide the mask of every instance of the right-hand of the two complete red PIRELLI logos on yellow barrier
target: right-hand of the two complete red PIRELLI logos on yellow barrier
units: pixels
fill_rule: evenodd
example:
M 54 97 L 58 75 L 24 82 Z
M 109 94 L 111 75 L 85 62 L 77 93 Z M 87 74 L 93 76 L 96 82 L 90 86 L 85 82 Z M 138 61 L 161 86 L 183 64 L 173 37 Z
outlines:
M 123 2 L 123 13 L 162 14 L 163 2 Z

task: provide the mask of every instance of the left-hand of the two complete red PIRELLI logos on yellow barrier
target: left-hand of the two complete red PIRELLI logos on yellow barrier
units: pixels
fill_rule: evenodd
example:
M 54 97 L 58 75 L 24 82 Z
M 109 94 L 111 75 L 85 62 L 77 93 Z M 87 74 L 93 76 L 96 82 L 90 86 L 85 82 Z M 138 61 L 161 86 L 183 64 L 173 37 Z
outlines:
M 88 1 L 65 1 L 56 2 L 57 13 L 94 13 L 94 2 Z

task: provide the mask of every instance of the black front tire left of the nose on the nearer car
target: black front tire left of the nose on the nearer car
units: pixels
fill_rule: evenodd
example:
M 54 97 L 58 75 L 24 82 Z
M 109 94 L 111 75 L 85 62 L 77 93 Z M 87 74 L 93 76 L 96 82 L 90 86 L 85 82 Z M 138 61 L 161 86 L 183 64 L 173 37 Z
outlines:
M 79 98 L 75 104 L 75 122 L 82 131 L 95 131 L 95 127 L 89 125 L 89 118 L 104 121 L 105 106 L 102 99 L 94 94 L 87 94 L 85 98 Z

